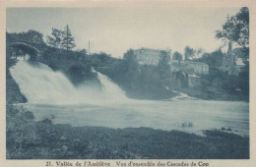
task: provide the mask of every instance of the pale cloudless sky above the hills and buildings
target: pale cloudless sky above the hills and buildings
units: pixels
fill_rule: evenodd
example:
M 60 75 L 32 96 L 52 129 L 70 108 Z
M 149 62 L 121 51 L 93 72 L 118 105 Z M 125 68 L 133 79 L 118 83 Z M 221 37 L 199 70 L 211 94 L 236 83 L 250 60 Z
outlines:
M 122 58 L 128 49 L 171 49 L 184 53 L 186 45 L 212 52 L 222 45 L 215 31 L 222 29 L 226 15 L 239 8 L 8 8 L 7 31 L 29 29 L 43 33 L 69 25 L 76 49 L 105 52 Z

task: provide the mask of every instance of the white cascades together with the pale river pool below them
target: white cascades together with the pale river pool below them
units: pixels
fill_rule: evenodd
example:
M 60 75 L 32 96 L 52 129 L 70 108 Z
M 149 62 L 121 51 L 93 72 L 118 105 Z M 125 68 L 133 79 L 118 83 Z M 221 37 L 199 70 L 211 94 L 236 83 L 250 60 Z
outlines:
M 54 115 L 54 124 L 109 128 L 149 127 L 202 135 L 202 130 L 230 129 L 249 135 L 247 102 L 205 101 L 174 98 L 172 101 L 131 100 L 118 85 L 98 73 L 103 91 L 91 86 L 75 87 L 59 72 L 46 65 L 19 62 L 11 69 L 15 81 L 29 100 L 35 120 Z

